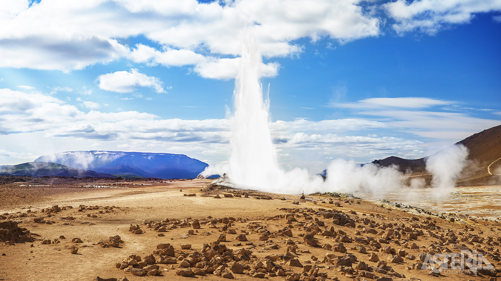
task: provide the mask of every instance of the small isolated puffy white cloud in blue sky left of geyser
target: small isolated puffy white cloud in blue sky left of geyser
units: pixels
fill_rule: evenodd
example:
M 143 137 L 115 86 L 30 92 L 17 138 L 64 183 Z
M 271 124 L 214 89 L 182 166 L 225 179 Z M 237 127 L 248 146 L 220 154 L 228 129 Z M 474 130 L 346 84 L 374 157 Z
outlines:
M 98 80 L 98 86 L 107 91 L 123 93 L 133 92 L 138 87 L 150 87 L 158 93 L 165 92 L 160 79 L 143 74 L 135 68 L 131 68 L 130 72 L 124 70 L 102 74 L 99 75 Z

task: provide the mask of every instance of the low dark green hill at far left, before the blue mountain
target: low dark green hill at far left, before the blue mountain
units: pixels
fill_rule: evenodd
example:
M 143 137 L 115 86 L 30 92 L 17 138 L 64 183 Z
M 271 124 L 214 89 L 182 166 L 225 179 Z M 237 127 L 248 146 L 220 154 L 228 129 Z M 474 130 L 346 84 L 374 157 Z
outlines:
M 111 174 L 98 173 L 87 169 L 72 168 L 52 162 L 27 162 L 17 165 L 3 165 L 0 166 L 0 175 L 116 177 Z

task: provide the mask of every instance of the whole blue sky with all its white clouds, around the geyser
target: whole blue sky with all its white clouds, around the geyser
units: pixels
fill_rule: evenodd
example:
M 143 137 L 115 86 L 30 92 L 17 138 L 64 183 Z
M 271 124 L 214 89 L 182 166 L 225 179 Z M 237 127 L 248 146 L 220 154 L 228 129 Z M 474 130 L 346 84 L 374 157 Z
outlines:
M 498 1 L 8 0 L 0 164 L 91 149 L 225 161 L 244 24 L 285 168 L 422 157 L 501 123 Z

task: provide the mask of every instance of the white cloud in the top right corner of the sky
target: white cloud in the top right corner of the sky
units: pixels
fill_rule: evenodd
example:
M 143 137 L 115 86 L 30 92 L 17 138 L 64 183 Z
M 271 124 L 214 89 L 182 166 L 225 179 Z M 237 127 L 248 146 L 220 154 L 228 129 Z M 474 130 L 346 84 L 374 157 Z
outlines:
M 499 11 L 498 0 L 397 0 L 383 5 L 395 19 L 392 26 L 399 34 L 415 29 L 435 34 L 451 24 L 469 22 L 475 13 Z

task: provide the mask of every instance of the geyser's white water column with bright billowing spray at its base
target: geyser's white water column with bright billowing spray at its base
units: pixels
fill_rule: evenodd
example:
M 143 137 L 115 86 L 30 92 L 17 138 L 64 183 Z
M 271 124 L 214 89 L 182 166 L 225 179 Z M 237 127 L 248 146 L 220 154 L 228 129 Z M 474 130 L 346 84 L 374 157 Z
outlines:
M 242 189 L 288 194 L 318 191 L 323 183 L 321 176 L 311 177 L 301 168 L 285 172 L 279 166 L 269 127 L 270 102 L 263 98 L 260 82 L 263 61 L 258 42 L 245 29 L 241 46 L 234 113 L 229 117 L 231 155 L 227 163 L 208 166 L 201 175 L 226 173 L 226 178 L 214 182 Z

